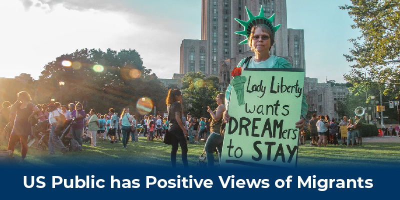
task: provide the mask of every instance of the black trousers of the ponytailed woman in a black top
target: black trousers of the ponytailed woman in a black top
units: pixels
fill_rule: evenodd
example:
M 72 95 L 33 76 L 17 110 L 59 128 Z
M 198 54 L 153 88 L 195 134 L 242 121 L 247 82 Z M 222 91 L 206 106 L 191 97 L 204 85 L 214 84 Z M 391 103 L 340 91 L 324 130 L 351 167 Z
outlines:
M 182 151 L 182 162 L 183 167 L 188 168 L 187 164 L 187 144 L 186 138 L 183 135 L 183 131 L 169 131 L 172 135 L 172 147 L 171 147 L 171 164 L 172 167 L 176 167 L 176 152 L 178 151 L 178 145 L 180 145 L 180 150 Z

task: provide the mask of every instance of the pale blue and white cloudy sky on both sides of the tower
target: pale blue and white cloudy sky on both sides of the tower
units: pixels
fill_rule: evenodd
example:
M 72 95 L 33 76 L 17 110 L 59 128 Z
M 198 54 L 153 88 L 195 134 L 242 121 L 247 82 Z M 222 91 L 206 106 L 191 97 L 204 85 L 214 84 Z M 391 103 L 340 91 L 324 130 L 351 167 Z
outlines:
M 344 82 L 343 54 L 360 35 L 339 5 L 286 0 L 287 27 L 304 30 L 306 76 Z M 201 0 L 6 0 L 0 6 L 0 77 L 38 79 L 44 65 L 76 49 L 135 49 L 158 78 L 179 73 L 183 39 L 201 37 Z

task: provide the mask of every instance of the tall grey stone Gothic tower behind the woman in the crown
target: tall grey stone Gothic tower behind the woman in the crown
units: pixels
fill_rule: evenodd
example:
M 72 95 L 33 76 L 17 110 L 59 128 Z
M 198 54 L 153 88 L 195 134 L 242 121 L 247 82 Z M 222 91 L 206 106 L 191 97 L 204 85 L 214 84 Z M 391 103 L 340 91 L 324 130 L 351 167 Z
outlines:
M 201 71 L 219 77 L 219 90 L 226 89 L 230 71 L 240 59 L 254 55 L 247 44 L 238 44 L 243 36 L 234 32 L 243 27 L 234 18 L 248 20 L 245 6 L 258 14 L 262 5 L 264 15 L 275 13 L 275 33 L 271 55 L 283 57 L 294 68 L 305 68 L 304 33 L 287 28 L 286 0 L 201 0 L 201 40 L 183 39 L 180 45 L 179 73 Z

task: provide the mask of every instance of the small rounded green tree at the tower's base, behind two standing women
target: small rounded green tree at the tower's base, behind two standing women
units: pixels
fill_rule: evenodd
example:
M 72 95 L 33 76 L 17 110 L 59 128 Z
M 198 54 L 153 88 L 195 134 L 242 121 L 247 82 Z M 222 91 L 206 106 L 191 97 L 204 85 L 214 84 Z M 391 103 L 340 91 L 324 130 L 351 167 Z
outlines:
M 215 98 L 219 79 L 216 76 L 205 77 L 201 72 L 189 72 L 182 78 L 183 109 L 192 116 L 209 117 L 207 106 L 216 108 Z

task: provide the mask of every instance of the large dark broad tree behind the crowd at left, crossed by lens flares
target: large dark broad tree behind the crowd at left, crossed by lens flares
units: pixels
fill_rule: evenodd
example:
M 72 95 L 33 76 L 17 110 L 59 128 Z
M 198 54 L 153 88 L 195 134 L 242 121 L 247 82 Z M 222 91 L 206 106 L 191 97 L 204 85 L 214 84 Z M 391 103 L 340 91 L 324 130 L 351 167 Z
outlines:
M 65 60 L 72 65 L 64 66 Z M 157 110 L 165 110 L 166 90 L 150 72 L 143 66 L 138 52 L 132 49 L 76 50 L 44 66 L 37 81 L 36 96 L 40 102 L 49 102 L 50 98 L 62 104 L 84 101 L 83 106 L 88 107 L 85 109 L 94 108 L 101 113 L 111 107 L 118 113 L 124 107 L 135 108 L 139 98 L 147 97 Z M 65 84 L 59 86 L 59 81 Z

